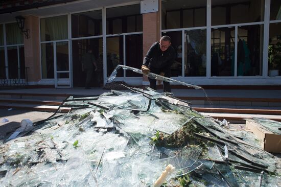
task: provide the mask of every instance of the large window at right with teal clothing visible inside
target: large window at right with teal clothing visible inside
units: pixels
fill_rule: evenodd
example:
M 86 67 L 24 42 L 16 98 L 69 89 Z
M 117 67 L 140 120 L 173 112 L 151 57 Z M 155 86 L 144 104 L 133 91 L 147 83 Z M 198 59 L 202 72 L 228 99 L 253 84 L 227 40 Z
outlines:
M 262 0 L 212 1 L 211 76 L 262 75 L 264 24 L 250 23 L 264 20 L 264 4 Z

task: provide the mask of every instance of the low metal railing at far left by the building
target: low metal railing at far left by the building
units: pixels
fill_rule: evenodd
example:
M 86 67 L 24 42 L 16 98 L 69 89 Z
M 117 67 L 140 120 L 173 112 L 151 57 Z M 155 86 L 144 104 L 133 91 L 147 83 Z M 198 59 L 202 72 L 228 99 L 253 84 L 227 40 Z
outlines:
M 0 68 L 0 86 L 26 86 L 28 85 L 29 67 L 2 67 Z

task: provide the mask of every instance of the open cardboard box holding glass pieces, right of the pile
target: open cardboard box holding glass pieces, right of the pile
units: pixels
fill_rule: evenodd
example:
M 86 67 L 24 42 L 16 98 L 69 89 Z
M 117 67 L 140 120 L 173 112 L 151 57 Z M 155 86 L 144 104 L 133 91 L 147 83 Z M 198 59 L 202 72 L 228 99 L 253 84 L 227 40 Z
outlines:
M 259 139 L 262 148 L 270 153 L 281 153 L 281 123 L 268 119 L 245 119 L 246 130 L 251 130 Z M 263 124 L 274 124 L 271 127 Z

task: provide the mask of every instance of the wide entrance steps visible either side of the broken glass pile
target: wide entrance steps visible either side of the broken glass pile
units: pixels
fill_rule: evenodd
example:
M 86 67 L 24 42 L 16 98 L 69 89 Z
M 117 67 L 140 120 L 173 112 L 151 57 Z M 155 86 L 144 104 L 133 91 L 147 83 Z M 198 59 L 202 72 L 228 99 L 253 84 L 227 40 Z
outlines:
M 0 108 L 25 109 L 33 111 L 57 111 L 60 104 L 69 95 L 66 93 L 20 93 L 0 92 Z M 105 92 L 109 90 L 104 90 Z M 83 90 L 83 93 L 84 90 Z M 99 93 L 100 94 L 100 93 Z M 93 92 L 91 92 L 91 96 Z M 203 114 L 215 119 L 231 121 L 243 121 L 244 118 L 252 118 L 259 115 L 272 120 L 281 121 L 281 99 L 271 98 L 222 98 L 222 97 L 184 97 L 175 96 L 178 99 L 189 101 L 191 107 Z M 61 108 L 61 112 L 68 112 L 71 108 Z M 280 118 L 280 119 L 279 119 Z

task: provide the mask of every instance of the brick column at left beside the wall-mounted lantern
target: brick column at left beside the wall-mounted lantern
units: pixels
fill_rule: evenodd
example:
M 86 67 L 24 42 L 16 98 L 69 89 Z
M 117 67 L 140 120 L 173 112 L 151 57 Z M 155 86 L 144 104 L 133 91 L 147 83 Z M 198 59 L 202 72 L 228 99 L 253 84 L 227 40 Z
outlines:
M 29 29 L 29 39 L 25 43 L 25 65 L 28 69 L 28 81 L 37 82 L 41 79 L 40 72 L 40 38 L 39 38 L 39 18 L 29 15 L 25 16 L 25 29 Z M 34 83 L 31 83 L 34 84 Z

